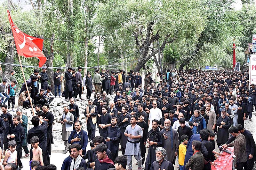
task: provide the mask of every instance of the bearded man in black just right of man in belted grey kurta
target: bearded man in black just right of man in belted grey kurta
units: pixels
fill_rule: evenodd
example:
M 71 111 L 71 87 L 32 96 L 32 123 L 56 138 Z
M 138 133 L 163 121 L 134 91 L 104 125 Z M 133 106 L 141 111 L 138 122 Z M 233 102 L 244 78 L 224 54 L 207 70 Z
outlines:
M 151 164 L 155 161 L 156 155 L 155 148 L 157 146 L 162 146 L 163 144 L 163 136 L 161 132 L 158 129 L 159 121 L 154 119 L 152 121 L 152 129 L 148 132 L 147 142 L 149 144 L 148 148 L 148 156 L 145 163 L 145 169 L 149 169 L 151 167 Z

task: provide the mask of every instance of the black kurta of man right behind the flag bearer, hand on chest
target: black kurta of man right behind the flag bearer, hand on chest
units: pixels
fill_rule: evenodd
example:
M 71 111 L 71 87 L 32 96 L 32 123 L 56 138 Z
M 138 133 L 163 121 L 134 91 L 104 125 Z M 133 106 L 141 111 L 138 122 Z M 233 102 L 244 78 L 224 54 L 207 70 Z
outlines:
M 44 118 L 48 119 L 48 127 L 47 127 L 47 148 L 48 148 L 48 153 L 51 155 L 52 153 L 52 144 L 53 144 L 53 136 L 52 136 L 52 123 L 53 123 L 53 115 L 52 112 L 47 112 L 44 114 Z

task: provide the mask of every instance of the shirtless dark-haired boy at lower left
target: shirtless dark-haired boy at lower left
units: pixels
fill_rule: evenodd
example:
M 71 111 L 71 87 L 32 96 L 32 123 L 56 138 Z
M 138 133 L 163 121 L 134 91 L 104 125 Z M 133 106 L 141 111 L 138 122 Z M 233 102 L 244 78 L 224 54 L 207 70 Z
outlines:
M 44 165 L 44 161 L 43 161 L 43 152 L 42 149 L 38 146 L 39 144 L 39 138 L 37 136 L 34 136 L 30 139 L 30 143 L 33 147 L 32 152 L 33 152 L 33 158 L 32 160 L 29 162 L 31 165 L 31 162 L 33 160 L 39 161 L 41 166 Z M 31 167 L 30 167 L 31 168 Z

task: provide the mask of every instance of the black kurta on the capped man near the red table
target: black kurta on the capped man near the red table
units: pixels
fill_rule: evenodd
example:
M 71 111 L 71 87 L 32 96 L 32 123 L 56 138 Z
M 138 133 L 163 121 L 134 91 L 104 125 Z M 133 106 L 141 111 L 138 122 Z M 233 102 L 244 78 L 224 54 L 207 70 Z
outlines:
M 222 128 L 218 128 L 218 135 L 217 135 L 217 143 L 226 143 L 228 141 L 228 129 L 230 128 L 230 118 L 228 116 L 225 116 L 224 119 L 222 118 L 222 116 L 220 116 L 217 120 L 216 123 L 216 128 L 217 126 L 220 126 L 221 123 L 220 122 L 225 122 L 225 125 L 222 125 Z

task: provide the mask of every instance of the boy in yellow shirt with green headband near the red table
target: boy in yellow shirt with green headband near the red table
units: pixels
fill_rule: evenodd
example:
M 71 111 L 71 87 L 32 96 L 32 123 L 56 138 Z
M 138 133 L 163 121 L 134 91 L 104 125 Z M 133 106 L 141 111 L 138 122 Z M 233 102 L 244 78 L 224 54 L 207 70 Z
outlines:
M 183 169 L 185 169 L 184 161 L 185 161 L 185 155 L 187 152 L 186 144 L 188 144 L 188 136 L 181 135 L 180 140 L 181 140 L 181 144 L 179 146 L 179 165 L 180 165 L 180 170 L 183 170 Z

